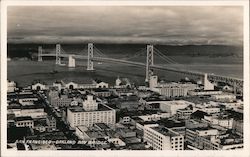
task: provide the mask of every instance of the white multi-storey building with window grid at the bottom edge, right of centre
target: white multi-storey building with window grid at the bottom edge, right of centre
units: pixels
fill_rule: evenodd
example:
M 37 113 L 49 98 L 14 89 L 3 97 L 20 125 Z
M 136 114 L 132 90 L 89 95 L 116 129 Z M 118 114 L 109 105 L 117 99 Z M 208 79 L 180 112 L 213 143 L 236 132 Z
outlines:
M 184 136 L 165 127 L 145 125 L 143 138 L 154 150 L 184 150 Z

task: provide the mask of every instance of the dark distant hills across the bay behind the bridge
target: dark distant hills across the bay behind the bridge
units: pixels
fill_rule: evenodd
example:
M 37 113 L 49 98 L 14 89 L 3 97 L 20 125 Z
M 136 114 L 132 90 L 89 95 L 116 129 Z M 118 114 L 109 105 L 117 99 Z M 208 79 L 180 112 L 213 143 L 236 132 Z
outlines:
M 10 58 L 36 56 L 38 46 L 43 46 L 46 51 L 54 51 L 55 45 L 52 44 L 8 44 L 7 55 Z M 69 53 L 83 54 L 87 44 L 62 44 L 64 51 Z M 132 55 L 144 49 L 146 55 L 146 44 L 95 44 L 104 54 L 123 54 Z M 155 45 L 155 48 L 168 56 L 209 56 L 223 57 L 234 56 L 243 57 L 243 47 L 227 45 Z

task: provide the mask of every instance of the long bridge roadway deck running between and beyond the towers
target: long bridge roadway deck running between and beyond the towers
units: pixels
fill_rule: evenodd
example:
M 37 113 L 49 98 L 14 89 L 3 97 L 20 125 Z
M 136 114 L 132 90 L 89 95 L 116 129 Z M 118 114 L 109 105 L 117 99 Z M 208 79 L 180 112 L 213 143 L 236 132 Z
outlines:
M 42 54 L 41 56 L 42 57 L 55 57 L 56 54 Z M 77 59 L 88 59 L 88 56 L 83 56 L 83 55 L 60 54 L 60 57 L 63 57 L 63 58 L 68 58 L 69 56 L 73 56 L 74 58 L 77 58 Z M 93 57 L 91 60 L 101 61 L 101 62 L 129 64 L 129 65 L 138 66 L 138 67 L 146 67 L 146 65 L 144 63 L 127 61 L 127 60 L 120 60 L 120 59 L 114 59 L 114 58 Z M 167 71 L 172 71 L 172 72 L 176 72 L 176 73 L 186 74 L 189 76 L 204 77 L 204 74 L 205 74 L 205 73 L 201 73 L 201 72 L 174 69 L 174 68 L 169 68 L 169 67 L 160 66 L 160 65 L 152 65 L 151 67 L 153 69 L 167 70 Z M 214 74 L 207 74 L 207 76 L 208 76 L 208 79 L 211 81 L 224 82 L 224 83 L 228 83 L 229 85 L 234 86 L 240 90 L 243 89 L 243 80 L 242 79 L 228 77 L 228 76 L 214 75 Z

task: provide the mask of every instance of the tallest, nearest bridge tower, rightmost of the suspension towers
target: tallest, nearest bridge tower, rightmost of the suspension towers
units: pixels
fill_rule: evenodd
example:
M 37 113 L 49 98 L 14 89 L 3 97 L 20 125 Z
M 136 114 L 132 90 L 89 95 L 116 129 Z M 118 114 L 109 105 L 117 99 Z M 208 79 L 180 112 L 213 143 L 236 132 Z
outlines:
M 146 60 L 146 79 L 145 82 L 149 82 L 152 71 L 150 66 L 154 65 L 154 46 L 147 45 L 147 60 Z

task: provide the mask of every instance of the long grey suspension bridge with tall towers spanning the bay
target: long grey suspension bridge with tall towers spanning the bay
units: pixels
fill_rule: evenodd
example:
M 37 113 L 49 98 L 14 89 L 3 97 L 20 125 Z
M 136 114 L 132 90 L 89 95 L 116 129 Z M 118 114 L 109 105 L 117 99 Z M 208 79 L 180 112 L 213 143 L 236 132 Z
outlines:
M 60 44 L 56 44 L 56 48 L 49 53 L 47 53 L 41 46 L 38 47 L 38 61 L 43 61 L 43 57 L 55 57 L 55 64 L 61 65 L 61 58 L 68 58 L 68 67 L 75 67 L 75 59 L 84 59 L 87 60 L 87 70 L 93 71 L 94 70 L 94 62 L 109 62 L 109 63 L 118 63 L 118 64 L 126 64 L 126 65 L 132 65 L 137 67 L 145 67 L 146 68 L 146 75 L 145 75 L 145 81 L 148 82 L 150 79 L 150 76 L 152 75 L 153 69 L 158 70 L 167 70 L 171 72 L 181 73 L 187 76 L 197 76 L 197 77 L 207 77 L 208 80 L 212 82 L 223 82 L 226 83 L 234 88 L 235 91 L 242 93 L 243 92 L 243 80 L 239 78 L 233 78 L 228 76 L 221 76 L 221 75 L 215 75 L 215 74 L 207 74 L 197 71 L 190 71 L 190 70 L 184 70 L 181 68 L 172 68 L 166 66 L 167 64 L 163 65 L 157 65 L 154 63 L 154 55 L 161 58 L 164 62 L 168 64 L 177 64 L 176 61 L 174 61 L 172 58 L 166 56 L 164 53 L 159 51 L 157 48 L 155 48 L 153 45 L 147 45 L 145 49 L 141 49 L 140 51 L 136 52 L 133 56 L 127 57 L 127 58 L 111 58 L 102 51 L 100 51 L 96 46 L 94 46 L 93 43 L 88 43 L 87 45 L 87 55 L 81 55 L 84 54 L 84 52 L 80 52 L 80 54 L 69 54 Z M 86 52 L 85 52 L 86 53 Z M 131 61 L 131 59 L 140 57 L 142 54 L 146 53 L 146 63 L 142 62 L 136 62 Z M 94 55 L 95 54 L 95 55 Z

